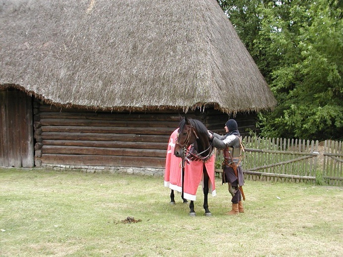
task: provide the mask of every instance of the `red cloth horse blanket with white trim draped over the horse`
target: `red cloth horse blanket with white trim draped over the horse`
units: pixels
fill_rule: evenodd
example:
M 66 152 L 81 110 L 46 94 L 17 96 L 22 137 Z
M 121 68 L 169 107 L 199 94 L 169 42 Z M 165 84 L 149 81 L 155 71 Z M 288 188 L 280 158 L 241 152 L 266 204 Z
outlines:
M 164 173 L 164 186 L 182 192 L 182 159 L 174 155 L 177 131 L 178 129 L 174 130 L 169 139 Z M 215 155 L 212 155 L 212 157 L 205 162 L 205 167 L 210 178 L 208 181 L 209 193 L 211 193 L 212 196 L 216 196 L 214 162 Z M 190 164 L 185 164 L 184 198 L 188 200 L 196 201 L 196 191 L 200 182 L 202 182 L 203 187 L 203 164 L 202 161 L 193 161 L 190 162 Z

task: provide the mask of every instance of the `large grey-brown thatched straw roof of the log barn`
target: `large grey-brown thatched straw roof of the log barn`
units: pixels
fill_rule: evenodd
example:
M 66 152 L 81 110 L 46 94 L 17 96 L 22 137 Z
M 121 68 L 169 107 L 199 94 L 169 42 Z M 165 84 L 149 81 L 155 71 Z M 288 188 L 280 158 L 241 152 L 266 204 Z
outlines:
M 0 0 L 0 86 L 112 110 L 271 109 L 215 0 Z

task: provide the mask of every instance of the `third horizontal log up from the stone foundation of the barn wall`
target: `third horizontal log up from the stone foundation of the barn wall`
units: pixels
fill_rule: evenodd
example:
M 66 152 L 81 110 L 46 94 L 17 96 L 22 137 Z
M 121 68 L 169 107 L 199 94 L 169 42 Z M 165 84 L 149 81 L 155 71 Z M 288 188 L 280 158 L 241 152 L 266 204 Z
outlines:
M 107 148 L 137 148 L 167 151 L 167 143 L 163 142 L 122 142 L 122 141 L 81 141 L 81 140 L 43 140 L 44 145 L 88 146 Z M 42 145 L 43 146 L 43 145 Z

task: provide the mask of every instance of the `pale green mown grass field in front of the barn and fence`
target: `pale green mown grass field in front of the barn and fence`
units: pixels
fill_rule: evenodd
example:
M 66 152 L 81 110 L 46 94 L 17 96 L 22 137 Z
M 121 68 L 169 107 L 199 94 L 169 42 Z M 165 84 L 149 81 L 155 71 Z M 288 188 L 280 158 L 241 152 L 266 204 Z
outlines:
M 343 256 L 343 188 L 245 181 L 245 213 L 227 216 L 216 186 L 213 216 L 199 187 L 192 218 L 163 177 L 0 168 L 0 256 Z

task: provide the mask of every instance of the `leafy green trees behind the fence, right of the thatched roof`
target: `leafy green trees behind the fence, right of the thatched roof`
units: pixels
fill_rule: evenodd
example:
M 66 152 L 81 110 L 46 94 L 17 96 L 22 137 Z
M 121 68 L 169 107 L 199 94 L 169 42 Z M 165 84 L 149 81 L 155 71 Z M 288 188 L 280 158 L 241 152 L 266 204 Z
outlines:
M 219 2 L 278 100 L 273 112 L 260 114 L 262 135 L 341 139 L 342 3 Z

